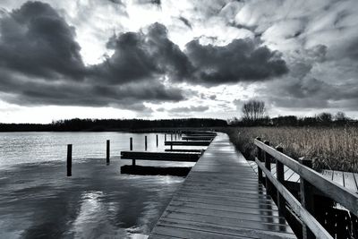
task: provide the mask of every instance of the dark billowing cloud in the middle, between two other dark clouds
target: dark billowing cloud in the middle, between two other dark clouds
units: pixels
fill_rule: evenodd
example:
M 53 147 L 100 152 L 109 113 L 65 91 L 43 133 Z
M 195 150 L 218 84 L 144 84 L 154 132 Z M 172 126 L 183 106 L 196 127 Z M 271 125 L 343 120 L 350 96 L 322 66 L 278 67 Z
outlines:
M 167 38 L 166 27 L 154 23 L 148 33 L 126 32 L 110 38 L 107 47 L 115 54 L 91 68 L 91 73 L 111 83 L 141 81 L 166 74 L 183 79 L 192 73 L 192 64 L 178 46 Z

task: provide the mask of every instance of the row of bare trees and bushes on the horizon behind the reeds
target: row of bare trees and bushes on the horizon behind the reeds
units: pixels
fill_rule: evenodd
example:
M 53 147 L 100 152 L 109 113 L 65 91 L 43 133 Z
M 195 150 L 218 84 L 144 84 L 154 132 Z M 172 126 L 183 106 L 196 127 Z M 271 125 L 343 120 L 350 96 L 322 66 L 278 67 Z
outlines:
M 233 126 L 345 126 L 358 125 L 358 121 L 353 120 L 343 112 L 336 115 L 323 112 L 315 116 L 297 117 L 295 115 L 277 116 L 270 118 L 266 115 L 265 102 L 260 100 L 249 100 L 243 104 L 243 117 L 234 117 L 228 120 L 229 125 Z

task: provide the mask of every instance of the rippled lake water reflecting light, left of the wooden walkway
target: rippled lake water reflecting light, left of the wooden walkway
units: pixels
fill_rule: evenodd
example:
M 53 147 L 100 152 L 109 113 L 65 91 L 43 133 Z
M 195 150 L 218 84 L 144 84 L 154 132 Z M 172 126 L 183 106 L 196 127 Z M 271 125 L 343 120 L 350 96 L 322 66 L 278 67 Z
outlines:
M 183 177 L 124 175 L 121 150 L 164 150 L 164 134 L 124 132 L 0 133 L 0 238 L 145 238 Z M 106 165 L 106 141 L 111 163 Z M 72 143 L 72 177 L 66 144 Z M 192 166 L 140 161 L 138 165 Z

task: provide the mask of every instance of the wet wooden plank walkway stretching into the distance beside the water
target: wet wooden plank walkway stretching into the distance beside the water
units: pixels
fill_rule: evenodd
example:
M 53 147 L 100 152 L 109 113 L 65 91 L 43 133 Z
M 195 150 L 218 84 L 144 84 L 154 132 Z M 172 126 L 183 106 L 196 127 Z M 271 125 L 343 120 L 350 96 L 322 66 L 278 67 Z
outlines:
M 296 238 L 243 155 L 218 133 L 149 238 Z

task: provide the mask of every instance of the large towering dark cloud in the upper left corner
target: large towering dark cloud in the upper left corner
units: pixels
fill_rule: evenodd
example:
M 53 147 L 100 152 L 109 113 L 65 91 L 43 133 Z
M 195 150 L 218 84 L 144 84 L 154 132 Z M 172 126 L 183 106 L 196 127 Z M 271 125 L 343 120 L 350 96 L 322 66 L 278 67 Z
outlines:
M 4 15 L 0 34 L 1 67 L 47 78 L 85 73 L 74 29 L 49 4 L 27 2 Z

